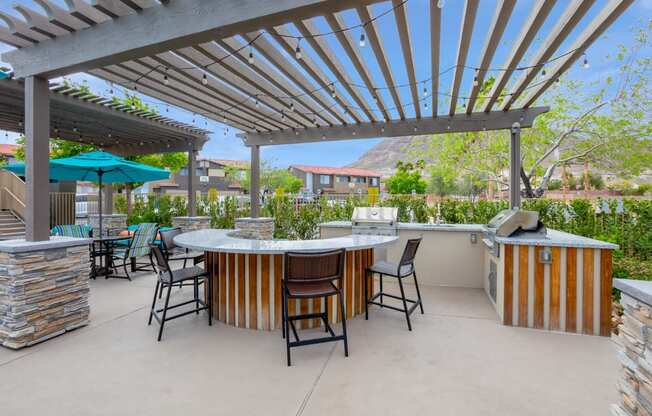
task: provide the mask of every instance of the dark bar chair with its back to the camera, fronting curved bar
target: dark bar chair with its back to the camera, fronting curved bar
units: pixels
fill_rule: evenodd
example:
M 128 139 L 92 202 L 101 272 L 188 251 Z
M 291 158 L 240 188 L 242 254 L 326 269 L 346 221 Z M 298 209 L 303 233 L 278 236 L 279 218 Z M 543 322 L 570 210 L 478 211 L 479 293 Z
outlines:
M 317 253 L 285 253 L 285 274 L 282 282 L 282 335 L 285 339 L 288 367 L 291 365 L 290 349 L 303 345 L 344 341 L 344 356 L 349 356 L 348 339 L 346 337 L 346 313 L 342 294 L 345 254 L 344 249 Z M 334 282 L 337 282 L 337 285 Z M 335 335 L 328 322 L 328 296 L 332 295 L 337 296 L 340 303 L 342 335 Z M 324 299 L 324 312 L 289 315 L 288 304 L 290 299 L 316 298 Z M 300 340 L 294 321 L 314 318 L 321 318 L 324 322 L 325 331 L 330 333 L 330 336 Z M 290 328 L 292 328 L 295 341 L 290 341 Z

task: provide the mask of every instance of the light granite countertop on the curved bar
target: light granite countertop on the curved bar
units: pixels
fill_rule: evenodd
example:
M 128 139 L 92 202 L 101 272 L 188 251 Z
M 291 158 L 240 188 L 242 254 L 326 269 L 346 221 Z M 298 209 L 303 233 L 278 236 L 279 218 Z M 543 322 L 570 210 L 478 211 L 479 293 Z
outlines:
M 380 235 L 347 235 L 318 240 L 251 240 L 232 236 L 237 230 L 204 229 L 179 234 L 174 242 L 185 248 L 223 253 L 282 254 L 288 251 L 326 251 L 344 248 L 362 250 L 388 246 L 398 237 Z

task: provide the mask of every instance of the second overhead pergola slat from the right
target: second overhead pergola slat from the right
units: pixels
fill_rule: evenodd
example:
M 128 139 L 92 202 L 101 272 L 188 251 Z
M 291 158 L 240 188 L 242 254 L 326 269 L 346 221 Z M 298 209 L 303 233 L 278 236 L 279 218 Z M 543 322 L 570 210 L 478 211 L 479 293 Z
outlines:
M 594 3 L 595 0 L 581 0 L 571 2 L 568 5 L 564 15 L 559 19 L 557 25 L 555 25 L 548 35 L 548 38 L 530 61 L 528 66 L 532 68 L 525 71 L 516 84 L 512 86 L 510 96 L 503 103 L 503 110 L 509 110 L 511 108 L 523 91 L 525 91 L 525 88 L 527 88 L 537 74 L 542 71 L 543 63 L 553 56 L 555 51 L 566 40 L 571 31 L 577 26 L 580 20 L 582 20 Z

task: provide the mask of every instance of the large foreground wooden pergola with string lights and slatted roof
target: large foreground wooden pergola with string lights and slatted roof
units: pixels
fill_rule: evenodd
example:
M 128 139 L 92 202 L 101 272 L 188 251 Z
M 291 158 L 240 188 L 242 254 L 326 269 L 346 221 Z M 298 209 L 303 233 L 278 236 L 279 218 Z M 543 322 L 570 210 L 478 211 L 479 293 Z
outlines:
M 28 182 L 47 180 L 47 168 L 39 163 L 47 159 L 44 138 L 52 128 L 47 79 L 85 71 L 242 131 L 251 148 L 252 216 L 259 208 L 260 146 L 415 132 L 511 129 L 510 203 L 518 206 L 520 128 L 547 111 L 535 106 L 537 99 L 633 2 L 610 0 L 588 22 L 583 20 L 594 0 L 559 2 L 561 17 L 540 33 L 557 1 L 532 1 L 506 61 L 496 67 L 494 55 L 516 0 L 497 0 L 488 30 L 476 33 L 484 36 L 477 66 L 467 57 L 480 1 L 465 0 L 457 43 L 444 46 L 443 2 L 419 3 L 430 19 L 431 76 L 417 79 L 406 0 L 67 0 L 68 10 L 51 0 L 35 1 L 43 12 L 16 6 L 23 20 L 0 14 L 8 26 L 0 30 L 0 41 L 16 47 L 3 59 L 26 85 Z M 377 3 L 387 7 L 374 15 Z M 345 14 L 358 23 L 347 23 Z M 381 17 L 393 18 L 402 59 L 389 59 Z M 569 39 L 576 29 L 579 34 Z M 530 51 L 537 37 L 543 42 Z M 560 51 L 566 42 L 570 46 Z M 359 43 L 369 44 L 380 77 L 373 76 Z M 447 69 L 440 61 L 447 51 L 455 53 L 455 65 L 452 84 L 442 88 Z M 531 58 L 523 65 L 526 53 Z M 496 68 L 493 87 L 483 92 Z M 407 83 L 397 82 L 399 69 Z M 463 92 L 466 69 L 473 70 L 474 81 Z M 401 88 L 409 90 L 407 98 Z M 441 96 L 448 98 L 445 105 Z M 30 198 L 33 215 L 43 215 L 35 205 L 47 201 L 34 192 Z M 31 221 L 28 238 L 47 238 Z

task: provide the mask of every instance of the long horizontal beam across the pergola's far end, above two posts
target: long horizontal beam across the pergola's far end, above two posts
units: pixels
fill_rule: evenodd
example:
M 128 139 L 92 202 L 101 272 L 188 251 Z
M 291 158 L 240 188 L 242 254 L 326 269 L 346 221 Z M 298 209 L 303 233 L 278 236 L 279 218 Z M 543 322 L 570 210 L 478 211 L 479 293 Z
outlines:
M 287 132 L 243 133 L 247 146 L 271 146 L 320 141 L 369 139 L 375 137 L 402 137 L 415 134 L 461 133 L 470 131 L 509 129 L 514 123 L 531 127 L 534 119 L 549 110 L 533 107 L 491 113 L 455 114 L 448 117 L 396 120 L 388 123 L 360 123 L 355 126 L 336 126 L 300 129 Z

